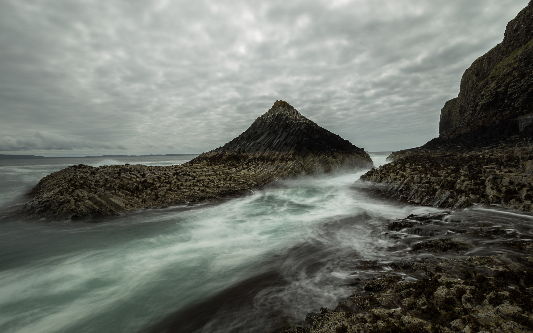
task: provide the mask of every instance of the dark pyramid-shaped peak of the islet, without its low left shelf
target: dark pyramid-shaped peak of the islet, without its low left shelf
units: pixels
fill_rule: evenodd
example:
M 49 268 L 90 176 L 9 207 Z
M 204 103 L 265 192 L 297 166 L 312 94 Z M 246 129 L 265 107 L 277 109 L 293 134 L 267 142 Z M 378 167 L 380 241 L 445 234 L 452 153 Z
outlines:
M 285 101 L 276 101 L 242 134 L 190 163 L 220 164 L 250 159 L 294 161 L 308 174 L 343 166 L 372 166 L 364 149 L 318 126 Z

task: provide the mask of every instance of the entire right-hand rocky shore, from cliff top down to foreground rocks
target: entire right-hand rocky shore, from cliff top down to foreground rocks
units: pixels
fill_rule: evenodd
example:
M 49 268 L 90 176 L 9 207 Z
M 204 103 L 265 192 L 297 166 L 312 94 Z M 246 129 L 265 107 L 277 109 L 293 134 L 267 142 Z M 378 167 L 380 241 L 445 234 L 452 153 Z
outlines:
M 465 71 L 439 125 L 439 137 L 392 153 L 390 164 L 354 186 L 445 209 L 533 209 L 533 1 L 508 23 L 503 42 Z M 517 213 L 506 212 L 518 220 Z M 467 228 L 468 219 L 455 223 L 449 215 L 391 221 L 390 237 L 430 237 L 407 245 L 406 259 L 386 267 L 355 263 L 356 272 L 382 274 L 355 280 L 354 294 L 334 310 L 277 332 L 533 332 L 531 237 L 511 231 L 516 221 Z

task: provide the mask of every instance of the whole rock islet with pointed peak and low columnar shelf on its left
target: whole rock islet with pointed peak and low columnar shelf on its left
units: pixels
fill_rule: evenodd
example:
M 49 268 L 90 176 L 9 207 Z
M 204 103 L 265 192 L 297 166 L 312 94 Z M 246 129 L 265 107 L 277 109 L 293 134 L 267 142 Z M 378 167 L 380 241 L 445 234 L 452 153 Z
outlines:
M 372 167 L 363 149 L 277 101 L 236 139 L 183 165 L 77 165 L 47 175 L 22 212 L 111 215 L 241 195 L 275 180 L 357 167 Z

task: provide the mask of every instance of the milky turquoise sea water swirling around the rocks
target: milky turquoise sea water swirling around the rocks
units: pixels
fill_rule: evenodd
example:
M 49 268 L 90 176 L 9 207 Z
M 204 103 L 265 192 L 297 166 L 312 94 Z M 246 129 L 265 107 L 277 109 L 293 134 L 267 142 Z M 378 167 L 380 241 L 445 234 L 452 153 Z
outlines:
M 370 155 L 378 166 L 388 153 Z M 40 178 L 68 165 L 184 161 L 0 161 L 0 331 L 268 332 L 335 307 L 353 293 L 348 283 L 387 271 L 387 263 L 424 260 L 407 252 L 410 244 L 454 233 L 457 224 L 502 227 L 501 240 L 533 238 L 532 215 L 481 206 L 417 234 L 390 232 L 391 220 L 443 210 L 369 197 L 354 185 L 366 170 L 96 220 L 15 213 Z M 502 251 L 498 240 L 458 237 L 472 244 L 471 253 Z M 381 268 L 363 269 L 369 261 Z

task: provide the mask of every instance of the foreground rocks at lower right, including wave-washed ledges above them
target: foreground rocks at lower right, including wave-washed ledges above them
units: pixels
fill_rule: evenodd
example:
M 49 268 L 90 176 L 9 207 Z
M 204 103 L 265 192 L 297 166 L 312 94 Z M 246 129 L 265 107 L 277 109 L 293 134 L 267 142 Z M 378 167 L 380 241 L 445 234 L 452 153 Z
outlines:
M 389 229 L 417 233 L 424 225 L 439 228 L 443 218 L 411 215 L 391 221 Z M 502 228 L 481 223 L 473 234 L 504 235 Z M 451 229 L 471 232 L 461 223 Z M 408 252 L 424 259 L 387 263 L 386 269 L 366 262 L 362 270 L 386 273 L 353 281 L 354 294 L 333 310 L 321 308 L 274 332 L 531 333 L 533 242 L 509 240 L 498 248 L 501 254 L 469 256 L 469 245 L 453 237 L 418 242 Z

